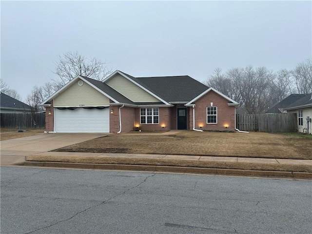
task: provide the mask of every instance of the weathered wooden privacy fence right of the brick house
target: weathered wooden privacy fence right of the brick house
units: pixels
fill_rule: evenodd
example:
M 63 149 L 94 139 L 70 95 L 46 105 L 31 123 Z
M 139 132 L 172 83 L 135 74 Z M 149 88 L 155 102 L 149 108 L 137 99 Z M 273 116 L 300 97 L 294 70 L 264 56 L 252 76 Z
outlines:
M 236 128 L 265 133 L 297 132 L 296 114 L 236 115 Z

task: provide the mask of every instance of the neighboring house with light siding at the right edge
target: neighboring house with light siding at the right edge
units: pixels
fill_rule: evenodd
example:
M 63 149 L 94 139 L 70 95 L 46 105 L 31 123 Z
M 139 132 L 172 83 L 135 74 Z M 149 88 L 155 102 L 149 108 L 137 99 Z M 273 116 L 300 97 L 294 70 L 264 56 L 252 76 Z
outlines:
M 298 132 L 312 133 L 312 93 L 291 94 L 266 111 L 266 114 L 270 113 L 295 113 Z

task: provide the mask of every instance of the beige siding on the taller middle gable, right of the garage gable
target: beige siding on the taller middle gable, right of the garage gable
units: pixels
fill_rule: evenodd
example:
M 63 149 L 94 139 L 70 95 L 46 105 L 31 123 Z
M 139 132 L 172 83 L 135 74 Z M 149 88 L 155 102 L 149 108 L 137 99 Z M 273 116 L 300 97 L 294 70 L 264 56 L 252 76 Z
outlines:
M 130 80 L 117 74 L 113 78 L 110 78 L 107 85 L 111 86 L 117 92 L 132 100 L 133 102 L 158 102 L 159 100 L 154 96 L 147 93 L 145 90 L 132 83 Z

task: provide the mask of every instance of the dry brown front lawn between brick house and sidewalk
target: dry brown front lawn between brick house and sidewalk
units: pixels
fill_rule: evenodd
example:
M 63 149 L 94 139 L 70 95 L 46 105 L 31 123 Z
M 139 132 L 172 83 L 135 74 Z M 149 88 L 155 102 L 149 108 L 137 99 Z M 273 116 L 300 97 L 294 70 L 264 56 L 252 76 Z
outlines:
M 311 145 L 312 137 L 298 134 L 183 131 L 175 135 L 110 135 L 55 152 L 312 159 Z

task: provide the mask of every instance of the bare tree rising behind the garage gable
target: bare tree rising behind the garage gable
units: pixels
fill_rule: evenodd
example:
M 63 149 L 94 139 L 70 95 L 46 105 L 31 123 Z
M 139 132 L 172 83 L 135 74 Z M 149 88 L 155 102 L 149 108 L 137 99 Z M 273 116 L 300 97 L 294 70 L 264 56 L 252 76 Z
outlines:
M 106 65 L 108 62 L 96 58 L 87 58 L 76 52 L 67 52 L 58 57 L 56 71 L 58 78 L 52 79 L 56 89 L 60 89 L 77 75 L 102 81 L 112 70 Z

